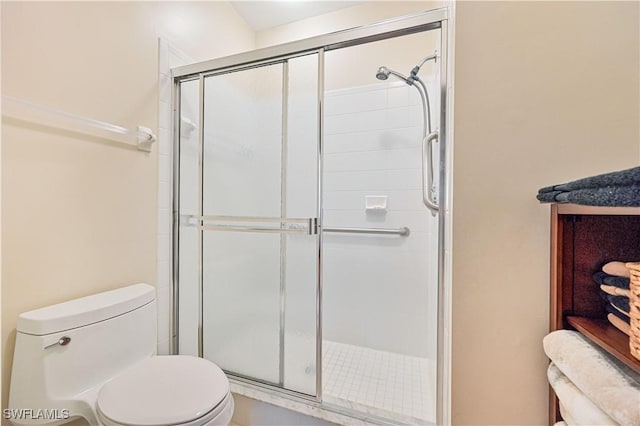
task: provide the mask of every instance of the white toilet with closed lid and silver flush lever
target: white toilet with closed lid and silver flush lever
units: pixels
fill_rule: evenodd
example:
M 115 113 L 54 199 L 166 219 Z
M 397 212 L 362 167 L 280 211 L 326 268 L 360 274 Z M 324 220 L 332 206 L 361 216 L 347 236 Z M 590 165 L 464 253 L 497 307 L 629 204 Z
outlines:
M 214 363 L 156 355 L 155 289 L 133 284 L 21 314 L 9 390 L 13 424 L 228 425 Z M 13 411 L 11 411 L 13 410 Z

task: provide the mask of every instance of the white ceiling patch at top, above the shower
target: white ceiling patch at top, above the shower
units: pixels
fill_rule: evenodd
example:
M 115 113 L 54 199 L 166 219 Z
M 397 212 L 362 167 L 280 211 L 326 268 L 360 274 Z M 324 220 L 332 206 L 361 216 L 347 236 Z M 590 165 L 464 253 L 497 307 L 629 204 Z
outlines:
M 355 6 L 362 1 L 231 1 L 234 9 L 254 31 L 262 31 L 334 10 Z

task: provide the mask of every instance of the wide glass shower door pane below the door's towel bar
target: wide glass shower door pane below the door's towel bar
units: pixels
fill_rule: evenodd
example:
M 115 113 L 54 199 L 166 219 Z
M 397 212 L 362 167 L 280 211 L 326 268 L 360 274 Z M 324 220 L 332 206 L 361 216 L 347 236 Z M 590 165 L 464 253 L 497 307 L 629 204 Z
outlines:
M 278 384 L 280 235 L 203 235 L 203 355 L 224 370 Z

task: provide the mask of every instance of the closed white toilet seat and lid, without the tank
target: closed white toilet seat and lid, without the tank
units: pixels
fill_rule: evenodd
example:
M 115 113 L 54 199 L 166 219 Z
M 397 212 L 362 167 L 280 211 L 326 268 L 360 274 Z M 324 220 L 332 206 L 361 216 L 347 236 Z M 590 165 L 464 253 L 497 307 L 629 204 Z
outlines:
M 193 356 L 154 356 L 106 383 L 98 415 L 107 425 L 210 424 L 231 405 L 222 370 Z

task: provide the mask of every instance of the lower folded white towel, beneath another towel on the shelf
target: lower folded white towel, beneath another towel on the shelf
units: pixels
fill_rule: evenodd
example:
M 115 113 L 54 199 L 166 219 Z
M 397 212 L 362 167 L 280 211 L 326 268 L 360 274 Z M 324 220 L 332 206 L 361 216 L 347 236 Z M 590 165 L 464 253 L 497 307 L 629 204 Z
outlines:
M 617 425 L 580 391 L 553 363 L 547 370 L 549 384 L 560 400 L 560 413 L 570 426 Z

